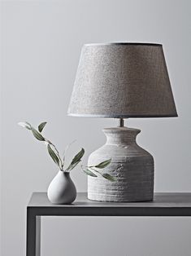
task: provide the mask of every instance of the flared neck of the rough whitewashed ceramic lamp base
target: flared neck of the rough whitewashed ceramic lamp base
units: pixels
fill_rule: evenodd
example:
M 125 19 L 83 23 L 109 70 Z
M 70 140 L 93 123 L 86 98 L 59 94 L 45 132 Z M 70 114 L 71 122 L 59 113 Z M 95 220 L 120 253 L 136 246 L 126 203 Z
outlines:
M 141 132 L 138 129 L 128 127 L 104 128 L 106 144 L 132 144 L 136 143 L 136 137 Z

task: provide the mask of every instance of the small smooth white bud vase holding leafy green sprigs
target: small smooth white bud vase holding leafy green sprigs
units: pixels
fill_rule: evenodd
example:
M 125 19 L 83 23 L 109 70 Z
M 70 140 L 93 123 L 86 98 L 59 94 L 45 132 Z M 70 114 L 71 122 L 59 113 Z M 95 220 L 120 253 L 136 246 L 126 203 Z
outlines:
M 76 199 L 76 187 L 70 173 L 59 170 L 49 185 L 47 196 L 53 204 L 72 204 Z

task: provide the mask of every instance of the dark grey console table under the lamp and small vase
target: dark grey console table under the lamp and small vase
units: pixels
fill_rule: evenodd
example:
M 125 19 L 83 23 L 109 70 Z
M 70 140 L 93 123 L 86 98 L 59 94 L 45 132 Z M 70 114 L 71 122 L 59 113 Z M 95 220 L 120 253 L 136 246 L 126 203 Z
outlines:
M 191 193 L 155 193 L 154 201 L 89 201 L 78 193 L 72 205 L 53 205 L 46 192 L 34 192 L 27 206 L 27 256 L 41 254 L 41 216 L 191 216 Z

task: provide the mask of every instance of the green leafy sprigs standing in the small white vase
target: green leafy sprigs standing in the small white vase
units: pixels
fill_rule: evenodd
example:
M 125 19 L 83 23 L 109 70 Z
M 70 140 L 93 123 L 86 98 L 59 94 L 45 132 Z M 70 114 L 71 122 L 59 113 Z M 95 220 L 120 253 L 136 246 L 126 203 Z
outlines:
M 49 139 L 46 139 L 42 134 L 42 130 L 46 126 L 46 121 L 41 122 L 41 124 L 38 126 L 37 130 L 28 122 L 19 122 L 18 125 L 31 130 L 33 136 L 46 144 L 47 151 L 54 161 L 54 163 L 59 166 L 59 170 L 62 170 L 63 172 L 70 172 L 72 169 L 74 169 L 81 161 L 82 157 L 84 157 L 85 149 L 81 148 L 80 152 L 76 154 L 75 157 L 73 157 L 71 163 L 69 166 L 67 166 L 66 169 L 64 169 L 64 163 L 65 163 L 65 154 L 67 151 L 67 148 L 71 145 L 69 144 L 67 148 L 64 151 L 63 157 L 60 157 L 59 150 L 55 147 L 54 143 L 52 143 Z M 98 177 L 97 174 L 101 174 L 103 178 L 108 179 L 110 181 L 116 181 L 116 178 L 111 176 L 111 174 L 103 173 L 99 169 L 104 169 L 106 166 L 109 166 L 111 164 L 111 159 L 108 159 L 106 161 L 102 161 L 98 165 L 95 166 L 81 166 L 81 169 L 85 172 L 85 174 L 92 176 L 92 177 Z M 97 174 L 95 174 L 97 173 Z

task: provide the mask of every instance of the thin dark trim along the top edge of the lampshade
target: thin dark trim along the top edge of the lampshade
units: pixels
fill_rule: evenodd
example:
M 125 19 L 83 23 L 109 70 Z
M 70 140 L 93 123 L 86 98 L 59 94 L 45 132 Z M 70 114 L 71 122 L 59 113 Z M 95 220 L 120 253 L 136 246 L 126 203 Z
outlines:
M 85 43 L 85 46 L 163 46 L 160 43 L 152 42 L 101 42 L 101 43 Z

